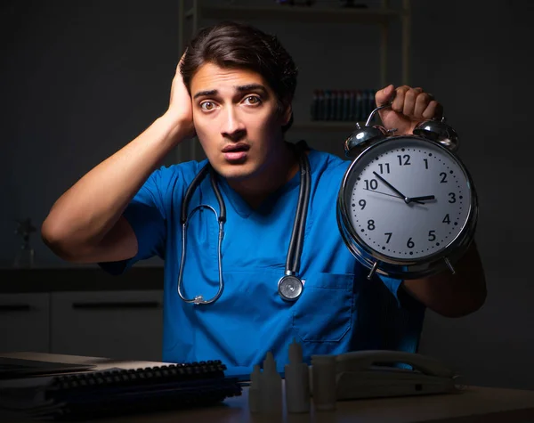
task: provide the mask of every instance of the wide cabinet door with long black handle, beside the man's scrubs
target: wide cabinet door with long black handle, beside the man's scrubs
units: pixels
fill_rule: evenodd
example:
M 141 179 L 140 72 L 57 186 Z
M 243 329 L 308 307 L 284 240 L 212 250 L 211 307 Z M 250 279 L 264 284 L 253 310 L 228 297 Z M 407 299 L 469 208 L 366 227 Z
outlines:
M 160 362 L 163 290 L 52 294 L 53 354 Z

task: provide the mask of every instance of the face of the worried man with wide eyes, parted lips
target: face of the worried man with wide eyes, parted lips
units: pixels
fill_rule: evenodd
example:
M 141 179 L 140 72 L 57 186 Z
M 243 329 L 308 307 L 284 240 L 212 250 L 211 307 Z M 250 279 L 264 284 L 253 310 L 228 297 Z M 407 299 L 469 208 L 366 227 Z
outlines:
M 206 63 L 192 77 L 190 92 L 198 140 L 217 173 L 239 181 L 276 160 L 290 110 L 277 111 L 277 97 L 261 75 Z

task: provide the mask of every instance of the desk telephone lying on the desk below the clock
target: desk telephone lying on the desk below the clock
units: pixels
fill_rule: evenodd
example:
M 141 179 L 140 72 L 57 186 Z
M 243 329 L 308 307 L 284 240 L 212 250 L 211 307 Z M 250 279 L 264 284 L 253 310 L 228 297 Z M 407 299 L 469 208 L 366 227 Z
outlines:
M 394 364 L 408 364 L 411 369 Z M 338 400 L 459 392 L 465 388 L 460 378 L 423 354 L 366 350 L 336 356 Z

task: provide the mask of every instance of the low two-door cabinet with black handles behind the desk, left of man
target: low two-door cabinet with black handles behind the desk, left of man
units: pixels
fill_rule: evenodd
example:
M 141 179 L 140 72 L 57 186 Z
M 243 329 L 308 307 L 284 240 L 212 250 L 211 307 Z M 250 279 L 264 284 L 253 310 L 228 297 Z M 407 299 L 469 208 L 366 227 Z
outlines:
M 163 290 L 0 294 L 0 353 L 160 362 Z

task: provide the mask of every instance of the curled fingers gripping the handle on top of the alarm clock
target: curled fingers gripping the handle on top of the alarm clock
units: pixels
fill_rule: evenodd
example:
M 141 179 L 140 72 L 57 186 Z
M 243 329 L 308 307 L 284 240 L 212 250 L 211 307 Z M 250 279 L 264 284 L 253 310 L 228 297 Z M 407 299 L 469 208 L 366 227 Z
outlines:
M 436 102 L 432 94 L 425 93 L 423 88 L 412 88 L 401 85 L 395 89 L 392 110 L 412 120 L 441 118 L 443 108 Z

